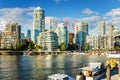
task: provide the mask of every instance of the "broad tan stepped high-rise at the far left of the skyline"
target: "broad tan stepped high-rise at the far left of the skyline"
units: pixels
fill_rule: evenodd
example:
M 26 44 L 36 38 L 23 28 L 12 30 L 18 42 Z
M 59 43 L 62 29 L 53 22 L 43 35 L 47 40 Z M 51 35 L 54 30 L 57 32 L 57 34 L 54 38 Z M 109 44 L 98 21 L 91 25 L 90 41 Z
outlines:
M 5 25 L 5 30 L 1 35 L 1 48 L 14 48 L 20 43 L 21 26 L 17 23 L 9 22 Z

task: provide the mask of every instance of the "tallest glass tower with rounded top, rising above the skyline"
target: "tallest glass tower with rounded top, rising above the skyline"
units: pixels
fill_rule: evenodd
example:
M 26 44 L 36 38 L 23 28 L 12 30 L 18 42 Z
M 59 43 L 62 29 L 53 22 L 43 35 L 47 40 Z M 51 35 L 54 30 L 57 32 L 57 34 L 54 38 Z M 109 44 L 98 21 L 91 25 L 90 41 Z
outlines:
M 34 43 L 37 44 L 37 37 L 40 32 L 45 30 L 45 16 L 44 10 L 40 7 L 37 7 L 33 13 L 33 37 Z

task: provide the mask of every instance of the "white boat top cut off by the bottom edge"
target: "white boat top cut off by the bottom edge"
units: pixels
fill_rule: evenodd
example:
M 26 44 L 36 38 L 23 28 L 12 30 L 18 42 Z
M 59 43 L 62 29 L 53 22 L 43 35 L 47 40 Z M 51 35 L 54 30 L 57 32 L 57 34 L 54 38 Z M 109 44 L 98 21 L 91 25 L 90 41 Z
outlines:
M 53 74 L 48 76 L 48 80 L 74 80 L 74 78 L 66 75 L 66 74 Z

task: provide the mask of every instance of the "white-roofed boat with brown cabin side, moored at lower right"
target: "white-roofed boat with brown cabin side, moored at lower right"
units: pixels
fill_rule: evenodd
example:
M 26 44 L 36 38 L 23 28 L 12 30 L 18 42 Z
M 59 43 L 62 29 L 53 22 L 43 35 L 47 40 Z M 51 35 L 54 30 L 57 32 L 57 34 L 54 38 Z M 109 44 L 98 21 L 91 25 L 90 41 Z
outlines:
M 104 64 L 101 62 L 90 62 L 87 67 L 80 69 L 86 76 L 86 80 L 101 80 L 106 73 Z

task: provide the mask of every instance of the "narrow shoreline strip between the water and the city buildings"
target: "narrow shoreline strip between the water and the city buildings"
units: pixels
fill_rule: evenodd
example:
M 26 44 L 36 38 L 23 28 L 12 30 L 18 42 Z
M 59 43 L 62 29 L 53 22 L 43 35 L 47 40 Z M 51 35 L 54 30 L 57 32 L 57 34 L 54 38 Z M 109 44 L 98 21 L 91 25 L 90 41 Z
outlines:
M 71 52 L 71 51 L 7 51 L 0 50 L 0 55 L 47 55 L 47 54 L 67 54 L 67 55 L 107 55 L 108 53 L 102 52 Z

